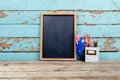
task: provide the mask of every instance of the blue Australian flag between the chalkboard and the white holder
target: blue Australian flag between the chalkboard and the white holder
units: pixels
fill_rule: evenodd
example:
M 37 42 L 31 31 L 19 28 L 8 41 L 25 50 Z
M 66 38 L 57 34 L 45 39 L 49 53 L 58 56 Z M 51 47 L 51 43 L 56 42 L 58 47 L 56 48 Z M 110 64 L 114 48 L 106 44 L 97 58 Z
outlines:
M 75 42 L 76 42 L 77 55 L 78 55 L 78 57 L 81 57 L 81 55 L 85 49 L 86 42 L 77 33 L 75 34 Z

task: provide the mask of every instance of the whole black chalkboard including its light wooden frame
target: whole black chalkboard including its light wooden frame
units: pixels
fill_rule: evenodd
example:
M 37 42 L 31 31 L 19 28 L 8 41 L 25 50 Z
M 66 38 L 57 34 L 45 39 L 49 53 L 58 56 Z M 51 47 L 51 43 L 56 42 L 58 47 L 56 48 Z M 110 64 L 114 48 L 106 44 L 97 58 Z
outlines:
M 75 14 L 46 13 L 41 19 L 41 60 L 76 60 Z

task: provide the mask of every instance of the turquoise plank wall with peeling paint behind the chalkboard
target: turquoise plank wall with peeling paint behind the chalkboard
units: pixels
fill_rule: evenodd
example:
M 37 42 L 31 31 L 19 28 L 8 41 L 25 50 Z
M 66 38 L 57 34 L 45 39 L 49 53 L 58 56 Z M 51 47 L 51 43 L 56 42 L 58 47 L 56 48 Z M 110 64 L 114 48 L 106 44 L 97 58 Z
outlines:
M 0 60 L 39 60 L 40 14 L 77 14 L 77 32 L 99 40 L 101 60 L 120 60 L 120 0 L 1 0 Z

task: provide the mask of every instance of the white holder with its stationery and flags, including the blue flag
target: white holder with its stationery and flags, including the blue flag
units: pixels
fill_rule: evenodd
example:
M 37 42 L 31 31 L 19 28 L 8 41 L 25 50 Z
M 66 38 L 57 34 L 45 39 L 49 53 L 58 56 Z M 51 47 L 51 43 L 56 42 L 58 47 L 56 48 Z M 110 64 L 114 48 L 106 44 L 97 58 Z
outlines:
M 76 49 L 77 55 L 81 58 L 85 49 L 85 62 L 99 62 L 99 47 L 98 40 L 93 40 L 92 36 L 86 34 L 85 37 L 80 37 L 76 33 Z

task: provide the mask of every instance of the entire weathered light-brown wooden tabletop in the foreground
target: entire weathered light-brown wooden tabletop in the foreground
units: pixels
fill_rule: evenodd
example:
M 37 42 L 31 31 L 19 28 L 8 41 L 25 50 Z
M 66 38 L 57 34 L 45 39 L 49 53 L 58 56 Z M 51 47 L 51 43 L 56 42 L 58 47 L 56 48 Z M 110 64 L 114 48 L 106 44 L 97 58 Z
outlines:
M 118 61 L 99 63 L 80 61 L 0 62 L 0 79 L 119 80 L 119 64 Z

